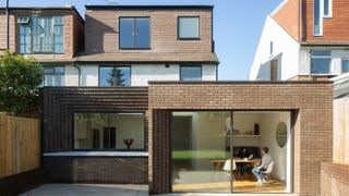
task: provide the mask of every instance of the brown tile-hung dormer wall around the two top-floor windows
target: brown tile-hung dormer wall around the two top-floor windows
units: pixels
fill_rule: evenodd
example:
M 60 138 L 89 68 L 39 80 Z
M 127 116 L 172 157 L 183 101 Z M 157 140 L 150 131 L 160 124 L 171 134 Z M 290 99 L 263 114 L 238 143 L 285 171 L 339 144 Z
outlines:
M 200 40 L 177 39 L 177 16 L 200 16 Z M 151 50 L 119 49 L 119 16 L 151 16 Z M 86 52 L 210 52 L 212 11 L 86 10 Z

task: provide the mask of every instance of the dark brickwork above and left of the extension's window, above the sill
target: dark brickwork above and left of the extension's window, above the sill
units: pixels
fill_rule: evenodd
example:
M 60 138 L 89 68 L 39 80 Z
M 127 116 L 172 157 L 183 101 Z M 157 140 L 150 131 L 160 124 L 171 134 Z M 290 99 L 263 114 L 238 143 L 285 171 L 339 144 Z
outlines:
M 45 87 L 43 93 L 44 152 L 73 149 L 74 112 L 145 112 L 148 105 L 146 87 Z

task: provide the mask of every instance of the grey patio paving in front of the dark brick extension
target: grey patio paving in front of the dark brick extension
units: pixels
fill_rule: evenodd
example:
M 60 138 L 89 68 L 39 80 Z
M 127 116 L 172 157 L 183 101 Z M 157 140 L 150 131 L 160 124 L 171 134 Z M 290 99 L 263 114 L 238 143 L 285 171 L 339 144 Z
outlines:
M 147 185 L 106 185 L 106 184 L 44 184 L 21 196 L 145 196 Z

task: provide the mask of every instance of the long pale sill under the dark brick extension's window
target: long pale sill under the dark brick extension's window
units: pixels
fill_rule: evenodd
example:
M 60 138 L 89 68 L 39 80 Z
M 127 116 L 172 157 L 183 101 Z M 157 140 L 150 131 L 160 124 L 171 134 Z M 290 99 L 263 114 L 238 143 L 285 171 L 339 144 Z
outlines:
M 147 151 L 59 151 L 44 157 L 148 157 Z

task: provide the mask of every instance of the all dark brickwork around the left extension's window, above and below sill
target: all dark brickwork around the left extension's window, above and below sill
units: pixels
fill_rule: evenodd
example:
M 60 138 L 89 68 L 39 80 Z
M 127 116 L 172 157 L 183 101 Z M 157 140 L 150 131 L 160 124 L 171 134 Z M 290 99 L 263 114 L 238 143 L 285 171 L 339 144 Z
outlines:
M 146 87 L 46 87 L 43 93 L 44 152 L 73 150 L 74 112 L 146 112 L 148 105 Z M 147 136 L 145 142 L 147 146 Z M 44 157 L 44 167 L 53 182 L 143 184 L 147 159 Z

